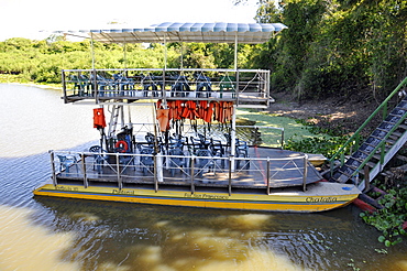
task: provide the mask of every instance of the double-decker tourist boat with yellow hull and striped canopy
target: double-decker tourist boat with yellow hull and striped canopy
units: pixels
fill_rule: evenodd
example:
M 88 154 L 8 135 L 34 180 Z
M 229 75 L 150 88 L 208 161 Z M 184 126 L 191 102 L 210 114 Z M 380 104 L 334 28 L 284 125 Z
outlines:
M 262 212 L 350 204 L 360 191 L 324 181 L 310 162 L 323 158 L 284 150 L 284 129 L 237 124 L 238 109 L 273 101 L 270 71 L 239 69 L 238 43 L 267 42 L 285 28 L 163 23 L 81 31 L 106 43 L 234 43 L 235 64 L 232 69 L 63 71 L 64 101 L 96 105 L 100 142 L 82 152 L 50 151 L 52 177 L 34 195 Z M 135 108 L 150 117 L 133 122 Z M 273 133 L 274 148 L 258 145 Z

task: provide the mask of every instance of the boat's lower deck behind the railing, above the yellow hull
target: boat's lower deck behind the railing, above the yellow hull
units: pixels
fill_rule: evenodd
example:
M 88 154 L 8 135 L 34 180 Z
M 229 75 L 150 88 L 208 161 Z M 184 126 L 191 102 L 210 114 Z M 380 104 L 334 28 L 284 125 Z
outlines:
M 124 163 L 118 154 L 105 155 L 99 163 L 89 153 L 78 155 L 81 159 L 77 164 L 55 174 L 56 184 L 277 188 L 304 186 L 322 180 L 304 154 L 263 147 L 249 148 L 249 158 L 245 159 L 205 158 L 207 166 L 198 165 L 199 156 L 185 156 L 185 164 L 177 165 L 173 163 L 176 156 L 156 155 L 156 162 L 147 165 L 143 164 L 146 155 L 138 153 L 125 155 Z M 154 161 L 153 156 L 151 161 Z

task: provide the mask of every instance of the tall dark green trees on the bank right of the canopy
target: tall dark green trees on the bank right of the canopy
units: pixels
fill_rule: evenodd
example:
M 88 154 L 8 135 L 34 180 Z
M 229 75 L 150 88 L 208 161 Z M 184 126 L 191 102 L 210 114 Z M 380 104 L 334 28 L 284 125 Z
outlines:
M 258 21 L 288 26 L 256 57 L 272 69 L 274 89 L 298 98 L 383 99 L 405 77 L 406 0 L 258 2 Z

